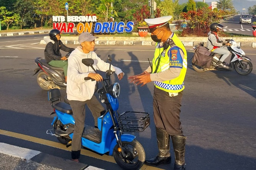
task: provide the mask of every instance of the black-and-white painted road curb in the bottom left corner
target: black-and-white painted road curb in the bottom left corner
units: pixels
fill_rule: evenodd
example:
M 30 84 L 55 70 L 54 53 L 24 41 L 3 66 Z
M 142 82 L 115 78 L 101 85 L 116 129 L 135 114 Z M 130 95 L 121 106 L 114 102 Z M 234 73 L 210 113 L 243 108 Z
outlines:
M 6 143 L 0 143 L 0 157 L 1 170 L 10 170 L 13 169 L 13 167 L 31 170 L 38 170 L 39 168 L 41 168 L 41 170 L 103 170 L 83 163 L 76 163 L 72 160 L 62 159 L 61 157 Z M 9 161 L 5 161 L 5 159 Z

